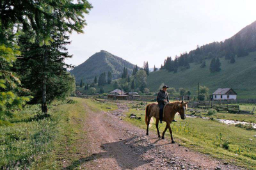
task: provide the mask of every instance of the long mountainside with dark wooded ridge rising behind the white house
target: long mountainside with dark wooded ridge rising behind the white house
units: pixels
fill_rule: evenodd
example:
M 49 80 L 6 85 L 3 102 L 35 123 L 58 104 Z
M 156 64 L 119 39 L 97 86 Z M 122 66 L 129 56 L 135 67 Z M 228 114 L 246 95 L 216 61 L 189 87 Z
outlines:
M 220 72 L 209 70 L 214 58 L 220 58 Z M 232 58 L 235 63 L 231 62 Z M 225 41 L 202 45 L 174 61 L 166 59 L 162 70 L 150 73 L 147 84 L 150 91 L 157 91 L 162 83 L 177 90 L 184 87 L 196 97 L 199 82 L 209 88 L 209 95 L 218 88 L 232 88 L 238 99 L 256 98 L 255 72 L 256 21 Z

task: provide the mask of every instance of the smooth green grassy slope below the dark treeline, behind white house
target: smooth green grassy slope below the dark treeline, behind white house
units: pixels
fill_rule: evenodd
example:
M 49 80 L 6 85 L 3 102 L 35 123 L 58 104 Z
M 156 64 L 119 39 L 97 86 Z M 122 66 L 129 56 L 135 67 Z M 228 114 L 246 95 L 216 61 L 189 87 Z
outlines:
M 178 70 L 177 73 L 159 70 L 151 72 L 147 78 L 148 89 L 157 91 L 164 83 L 176 89 L 190 89 L 192 96 L 197 94 L 198 82 L 209 88 L 209 94 L 218 88 L 232 88 L 237 92 L 237 98 L 256 98 L 256 52 L 251 52 L 244 58 L 236 58 L 236 63 L 230 64 L 225 58 L 220 58 L 221 71 L 210 72 L 210 59 L 206 59 L 206 67 L 191 63 L 191 68 Z

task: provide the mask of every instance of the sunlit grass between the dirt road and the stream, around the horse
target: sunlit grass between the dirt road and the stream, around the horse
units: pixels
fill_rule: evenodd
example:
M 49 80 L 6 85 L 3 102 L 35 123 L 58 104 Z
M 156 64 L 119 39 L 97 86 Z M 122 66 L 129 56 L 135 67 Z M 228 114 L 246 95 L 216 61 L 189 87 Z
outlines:
M 146 128 L 145 110 L 143 107 L 137 110 L 136 107 L 132 108 L 132 105 L 134 104 L 129 105 L 130 109 L 127 115 L 136 114 L 141 116 L 141 120 L 129 118 L 125 118 L 125 120 L 138 127 Z M 201 118 L 181 120 L 176 115 L 175 119 L 178 122 L 172 123 L 173 135 L 176 141 L 179 141 L 183 146 L 238 166 L 256 169 L 256 139 L 253 137 L 255 131 Z M 163 132 L 164 127 L 165 123 L 163 125 L 160 124 L 161 132 Z M 151 133 L 156 133 L 155 125 L 152 125 L 150 129 Z M 166 134 L 169 135 L 168 132 Z

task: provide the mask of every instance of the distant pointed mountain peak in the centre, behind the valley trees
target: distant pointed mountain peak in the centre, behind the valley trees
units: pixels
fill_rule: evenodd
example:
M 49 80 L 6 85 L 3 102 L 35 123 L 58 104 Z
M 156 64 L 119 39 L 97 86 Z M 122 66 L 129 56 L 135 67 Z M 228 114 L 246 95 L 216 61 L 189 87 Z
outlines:
M 92 81 L 97 75 L 109 71 L 113 75 L 113 79 L 117 79 L 122 74 L 124 67 L 128 69 L 129 74 L 131 75 L 134 65 L 128 61 L 115 56 L 106 50 L 100 50 L 88 58 L 84 63 L 79 66 L 76 66 L 73 70 L 70 70 L 70 73 L 76 77 L 76 82 L 83 81 Z

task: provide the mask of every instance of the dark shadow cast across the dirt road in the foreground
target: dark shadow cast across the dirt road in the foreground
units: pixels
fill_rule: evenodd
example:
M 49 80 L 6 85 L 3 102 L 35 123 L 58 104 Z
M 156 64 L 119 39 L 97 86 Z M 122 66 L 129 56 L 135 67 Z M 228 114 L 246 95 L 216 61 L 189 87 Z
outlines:
M 148 146 L 146 144 L 144 146 L 143 141 L 143 139 L 138 140 L 138 137 L 131 137 L 129 139 L 120 140 L 114 143 L 102 144 L 100 148 L 102 148 L 104 151 L 93 153 L 85 158 L 80 158 L 79 160 L 72 162 L 70 166 L 64 169 L 74 169 L 82 164 L 86 164 L 86 162 L 99 160 L 100 158 L 115 158 L 115 161 L 120 169 L 134 169 L 135 167 L 139 167 L 154 160 L 154 158 L 149 158 L 146 160 L 145 158 L 143 160 L 141 159 L 141 155 L 154 148 L 153 145 Z M 148 142 L 145 141 L 145 143 Z

